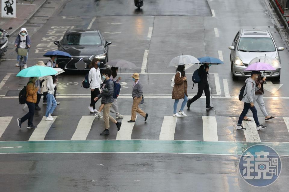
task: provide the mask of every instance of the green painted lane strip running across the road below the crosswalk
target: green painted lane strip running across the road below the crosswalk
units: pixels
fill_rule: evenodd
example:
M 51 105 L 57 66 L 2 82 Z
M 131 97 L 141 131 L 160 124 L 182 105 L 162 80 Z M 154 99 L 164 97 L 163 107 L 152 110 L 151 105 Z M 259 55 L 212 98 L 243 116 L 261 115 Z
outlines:
M 1 141 L 0 153 L 180 153 L 242 155 L 250 146 L 263 144 L 279 155 L 289 155 L 289 143 L 246 143 L 161 140 L 45 140 Z

